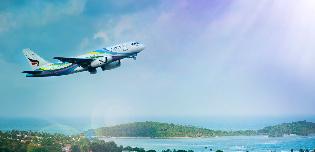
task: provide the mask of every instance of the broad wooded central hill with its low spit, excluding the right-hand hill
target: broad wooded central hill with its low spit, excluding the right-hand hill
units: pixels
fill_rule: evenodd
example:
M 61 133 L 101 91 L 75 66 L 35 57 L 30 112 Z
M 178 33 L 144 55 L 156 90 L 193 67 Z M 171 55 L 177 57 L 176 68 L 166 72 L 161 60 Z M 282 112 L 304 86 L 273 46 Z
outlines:
M 260 135 L 256 131 L 227 132 L 199 128 L 192 125 L 174 125 L 159 122 L 134 122 L 111 127 L 89 129 L 82 133 L 85 136 L 111 136 L 111 137 L 151 137 L 151 138 L 176 138 L 176 137 L 215 137 L 229 135 Z

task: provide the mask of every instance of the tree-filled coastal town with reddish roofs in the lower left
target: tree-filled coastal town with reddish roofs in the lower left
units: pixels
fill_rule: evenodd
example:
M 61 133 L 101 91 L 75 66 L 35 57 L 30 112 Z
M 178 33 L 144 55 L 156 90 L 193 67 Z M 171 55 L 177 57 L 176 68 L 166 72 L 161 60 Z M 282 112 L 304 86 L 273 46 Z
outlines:
M 146 152 L 143 148 L 117 146 L 114 141 L 80 135 L 0 130 L 0 151 L 5 152 Z M 156 151 L 150 151 L 156 152 Z

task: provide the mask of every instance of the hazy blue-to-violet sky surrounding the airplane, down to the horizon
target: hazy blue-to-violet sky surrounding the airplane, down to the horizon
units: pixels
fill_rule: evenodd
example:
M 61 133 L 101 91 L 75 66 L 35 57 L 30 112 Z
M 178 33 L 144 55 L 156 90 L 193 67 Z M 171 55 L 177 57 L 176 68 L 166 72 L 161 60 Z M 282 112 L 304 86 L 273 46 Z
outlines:
M 315 114 L 313 1 L 0 3 L 1 116 Z M 20 73 L 25 48 L 57 62 L 122 41 L 146 49 L 96 75 Z

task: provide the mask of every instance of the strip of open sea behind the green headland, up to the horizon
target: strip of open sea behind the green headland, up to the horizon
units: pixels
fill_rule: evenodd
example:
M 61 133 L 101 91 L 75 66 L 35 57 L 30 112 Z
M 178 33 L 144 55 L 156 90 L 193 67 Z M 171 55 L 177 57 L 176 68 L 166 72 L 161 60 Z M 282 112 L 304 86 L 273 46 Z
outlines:
M 0 117 L 0 130 L 32 130 L 58 133 L 81 133 L 88 129 L 109 127 L 131 122 L 163 122 L 174 125 L 203 126 L 213 130 L 258 130 L 270 125 L 278 125 L 297 121 L 314 122 L 315 117 L 283 116 L 283 117 Z M 36 124 L 36 125 L 32 125 Z

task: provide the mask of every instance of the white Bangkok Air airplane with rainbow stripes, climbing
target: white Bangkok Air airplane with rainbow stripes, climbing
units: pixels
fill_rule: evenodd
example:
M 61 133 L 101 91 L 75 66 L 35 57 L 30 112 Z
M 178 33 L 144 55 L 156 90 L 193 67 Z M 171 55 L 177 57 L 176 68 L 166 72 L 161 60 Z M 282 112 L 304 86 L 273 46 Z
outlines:
M 56 63 L 50 63 L 30 49 L 24 49 L 22 52 L 33 71 L 23 71 L 22 73 L 26 73 L 26 77 L 60 76 L 83 71 L 96 74 L 96 68 L 99 67 L 103 71 L 120 67 L 120 60 L 123 58 L 137 59 L 138 53 L 145 48 L 144 44 L 135 41 L 123 42 L 74 58 L 54 57 L 54 59 L 60 60 Z

